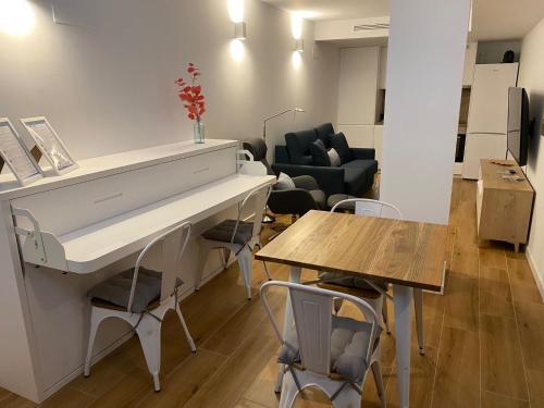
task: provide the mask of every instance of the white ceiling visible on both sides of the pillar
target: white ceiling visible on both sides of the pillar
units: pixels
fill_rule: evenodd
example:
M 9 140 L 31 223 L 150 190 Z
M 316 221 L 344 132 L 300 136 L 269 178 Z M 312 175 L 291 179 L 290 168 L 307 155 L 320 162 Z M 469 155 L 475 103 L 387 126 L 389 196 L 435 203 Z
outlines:
M 363 18 L 388 15 L 387 0 L 263 0 L 309 20 Z M 544 0 L 473 0 L 474 40 L 517 39 L 544 17 Z

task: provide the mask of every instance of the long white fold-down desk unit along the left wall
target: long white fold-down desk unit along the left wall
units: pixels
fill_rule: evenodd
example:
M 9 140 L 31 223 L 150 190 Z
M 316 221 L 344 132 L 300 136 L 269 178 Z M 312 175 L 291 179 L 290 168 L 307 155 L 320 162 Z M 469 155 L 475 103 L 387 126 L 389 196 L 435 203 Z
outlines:
M 191 292 L 199 231 L 232 217 L 248 193 L 273 176 L 237 172 L 236 140 L 180 143 L 81 161 L 79 169 L 14 187 L 0 176 L 0 386 L 42 401 L 79 375 L 85 356 L 87 290 L 121 268 L 166 228 L 190 221 L 194 239 L 180 265 Z M 45 257 L 16 226 L 34 232 Z M 22 258 L 20 259 L 20 254 Z M 5 260 L 5 261 L 4 261 Z M 208 264 L 210 277 L 222 265 Z M 40 268 L 36 268 L 40 265 Z M 127 336 L 107 325 L 98 357 Z M 16 368 L 13 369 L 13 368 Z

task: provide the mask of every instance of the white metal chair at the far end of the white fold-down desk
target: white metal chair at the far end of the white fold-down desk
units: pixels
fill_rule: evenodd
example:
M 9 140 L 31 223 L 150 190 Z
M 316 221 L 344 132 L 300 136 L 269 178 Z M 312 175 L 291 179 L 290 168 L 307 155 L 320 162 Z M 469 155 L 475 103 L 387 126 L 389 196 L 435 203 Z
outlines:
M 251 299 L 251 261 L 254 259 L 252 249 L 261 245 L 261 223 L 264 212 L 265 203 L 270 196 L 271 187 L 256 188 L 250 191 L 238 207 L 238 215 L 236 220 L 225 220 L 220 224 L 211 227 L 202 234 L 202 244 L 200 246 L 200 260 L 202 262 L 200 268 L 200 275 L 197 276 L 196 288 L 199 289 L 203 267 L 208 255 L 212 249 L 222 250 L 222 262 L 226 268 L 230 254 L 233 252 L 238 261 L 244 285 L 247 292 L 247 298 Z M 247 206 L 255 199 L 255 221 L 243 221 L 242 217 Z M 263 262 L 264 272 L 270 280 L 270 273 L 267 263 Z

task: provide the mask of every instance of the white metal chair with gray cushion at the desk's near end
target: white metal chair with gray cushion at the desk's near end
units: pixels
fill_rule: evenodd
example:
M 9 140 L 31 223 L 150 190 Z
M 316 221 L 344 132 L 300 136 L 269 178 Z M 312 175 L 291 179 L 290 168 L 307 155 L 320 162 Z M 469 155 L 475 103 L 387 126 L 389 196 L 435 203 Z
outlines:
M 118 318 L 126 321 L 137 333 L 147 367 L 153 378 L 156 392 L 161 390 L 159 380 L 161 324 L 166 311 L 171 309 L 176 311 L 190 350 L 193 353 L 196 351 L 195 342 L 180 310 L 177 290 L 183 282 L 178 277 L 172 276 L 172 282 L 165 282 L 164 286 L 173 287 L 173 293 L 162 296 L 163 273 L 141 267 L 141 262 L 149 250 L 157 244 L 164 242 L 165 238 L 173 236 L 174 233 L 181 233 L 182 235 L 176 260 L 178 262 L 187 247 L 190 228 L 191 224 L 186 222 L 161 234 L 141 250 L 134 269 L 112 276 L 89 290 L 91 316 L 87 357 L 85 359 L 85 376 L 89 376 L 90 374 L 92 345 L 98 327 L 102 321 L 109 318 Z

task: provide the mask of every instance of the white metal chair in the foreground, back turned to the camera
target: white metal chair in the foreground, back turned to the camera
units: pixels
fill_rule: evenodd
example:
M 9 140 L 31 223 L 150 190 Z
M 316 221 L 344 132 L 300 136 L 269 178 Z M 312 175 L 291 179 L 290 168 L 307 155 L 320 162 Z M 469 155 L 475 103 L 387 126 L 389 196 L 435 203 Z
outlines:
M 267 298 L 267 292 L 273 286 L 288 289 L 295 325 L 285 336 Z M 334 298 L 355 305 L 366 321 L 333 316 Z M 277 281 L 261 286 L 261 301 L 282 345 L 279 361 L 285 366 L 285 374 L 280 408 L 292 407 L 297 394 L 309 386 L 322 390 L 334 407 L 359 408 L 370 368 L 385 407 L 380 368 L 382 329 L 367 301 L 343 293 Z

